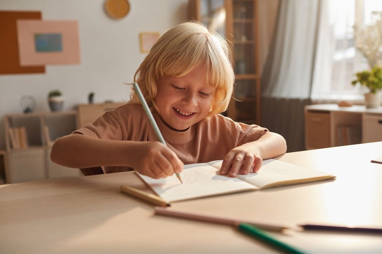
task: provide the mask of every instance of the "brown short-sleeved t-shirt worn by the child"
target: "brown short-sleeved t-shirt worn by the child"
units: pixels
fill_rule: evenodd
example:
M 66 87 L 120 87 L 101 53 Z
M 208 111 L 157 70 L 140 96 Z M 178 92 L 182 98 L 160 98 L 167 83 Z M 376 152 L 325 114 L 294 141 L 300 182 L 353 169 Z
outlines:
M 220 114 L 203 119 L 187 130 L 178 132 L 168 128 L 156 112 L 153 116 L 167 146 L 184 164 L 221 160 L 236 146 L 258 140 L 268 132 L 258 125 L 238 123 Z M 146 113 L 138 104 L 126 104 L 108 111 L 93 124 L 87 124 L 73 132 L 75 133 L 109 140 L 159 141 Z M 133 170 L 123 166 L 104 166 L 104 173 Z M 81 170 L 85 175 L 89 175 L 95 169 Z

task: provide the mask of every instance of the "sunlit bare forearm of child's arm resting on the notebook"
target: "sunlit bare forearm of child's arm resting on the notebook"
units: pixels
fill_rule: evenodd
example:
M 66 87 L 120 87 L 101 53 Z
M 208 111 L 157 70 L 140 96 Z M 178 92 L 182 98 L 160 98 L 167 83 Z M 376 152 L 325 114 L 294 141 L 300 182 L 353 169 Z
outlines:
M 238 146 L 237 148 L 254 153 L 262 159 L 269 159 L 286 153 L 286 141 L 281 135 L 268 132 L 258 140 Z

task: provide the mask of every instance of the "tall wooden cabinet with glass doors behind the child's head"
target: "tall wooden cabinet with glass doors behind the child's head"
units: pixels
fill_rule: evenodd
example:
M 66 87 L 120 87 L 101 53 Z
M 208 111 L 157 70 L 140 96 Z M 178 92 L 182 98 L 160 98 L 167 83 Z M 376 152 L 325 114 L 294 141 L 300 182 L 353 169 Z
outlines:
M 227 116 L 260 124 L 260 73 L 257 0 L 191 0 L 190 18 L 223 34 L 233 45 L 236 74 Z

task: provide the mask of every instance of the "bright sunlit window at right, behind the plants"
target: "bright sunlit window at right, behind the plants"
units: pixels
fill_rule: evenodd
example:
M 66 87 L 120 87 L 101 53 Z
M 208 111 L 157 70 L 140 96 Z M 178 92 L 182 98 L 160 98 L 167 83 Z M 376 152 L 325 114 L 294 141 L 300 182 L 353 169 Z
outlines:
M 353 26 L 374 22 L 373 12 L 382 11 L 381 0 L 327 0 L 320 10 L 312 99 L 362 100 L 362 87 L 351 81 L 358 71 L 368 69 L 356 50 Z

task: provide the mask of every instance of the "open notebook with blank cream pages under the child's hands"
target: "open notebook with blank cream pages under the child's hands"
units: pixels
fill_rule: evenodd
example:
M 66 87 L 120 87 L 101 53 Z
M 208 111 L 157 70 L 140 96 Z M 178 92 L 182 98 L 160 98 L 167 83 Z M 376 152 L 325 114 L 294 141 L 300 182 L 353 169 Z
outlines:
M 262 190 L 275 186 L 317 182 L 335 179 L 334 175 L 296 166 L 275 159 L 266 159 L 257 173 L 238 175 L 236 178 L 219 175 L 223 161 L 185 165 L 180 176 L 154 179 L 136 174 L 157 195 L 167 202 L 215 196 L 239 191 Z

